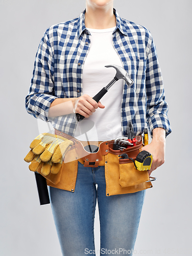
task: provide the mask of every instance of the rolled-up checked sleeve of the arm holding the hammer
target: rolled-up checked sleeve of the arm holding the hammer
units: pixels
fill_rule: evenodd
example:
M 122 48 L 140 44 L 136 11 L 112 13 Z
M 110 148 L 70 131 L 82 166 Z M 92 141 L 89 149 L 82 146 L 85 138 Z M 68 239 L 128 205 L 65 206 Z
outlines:
M 54 54 L 46 32 L 41 39 L 35 58 L 29 94 L 26 97 L 26 110 L 29 114 L 44 121 L 51 121 L 48 112 L 54 95 Z

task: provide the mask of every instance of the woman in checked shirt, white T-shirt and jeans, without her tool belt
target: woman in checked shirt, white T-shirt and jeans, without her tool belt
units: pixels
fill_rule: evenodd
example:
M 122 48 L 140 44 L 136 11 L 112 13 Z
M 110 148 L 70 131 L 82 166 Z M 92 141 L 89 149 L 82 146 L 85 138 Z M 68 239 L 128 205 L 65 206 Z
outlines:
M 123 80 L 117 81 L 97 103 L 92 96 L 115 75 L 115 70 L 105 68 L 111 64 L 123 67 L 134 84 L 128 88 Z M 142 151 L 153 155 L 149 175 L 164 162 L 165 136 L 171 128 L 153 39 L 146 28 L 119 17 L 112 0 L 86 0 L 86 10 L 78 18 L 47 29 L 36 55 L 26 108 L 81 141 L 85 136 L 90 141 L 126 136 L 129 122 L 140 135 L 147 122 L 153 139 Z M 89 125 L 92 121 L 96 132 L 88 132 L 74 113 L 87 118 Z M 82 129 L 84 135 L 79 133 Z M 47 184 L 63 255 L 95 255 L 97 200 L 101 254 L 132 255 L 145 188 L 106 196 L 105 166 L 85 167 L 80 160 L 73 193 Z

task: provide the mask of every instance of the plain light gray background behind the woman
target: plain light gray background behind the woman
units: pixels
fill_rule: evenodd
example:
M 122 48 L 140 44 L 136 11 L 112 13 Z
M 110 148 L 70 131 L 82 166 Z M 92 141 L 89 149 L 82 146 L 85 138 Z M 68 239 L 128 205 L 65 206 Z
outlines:
M 153 173 L 157 181 L 146 193 L 135 253 L 189 256 L 191 1 L 116 0 L 114 7 L 153 35 L 173 129 L 167 137 L 165 163 Z M 43 32 L 78 16 L 84 8 L 83 0 L 0 1 L 1 256 L 61 255 L 51 207 L 39 206 L 34 174 L 23 161 L 42 128 L 27 114 L 25 96 Z M 98 214 L 95 233 L 99 237 Z M 99 249 L 98 238 L 96 246 Z

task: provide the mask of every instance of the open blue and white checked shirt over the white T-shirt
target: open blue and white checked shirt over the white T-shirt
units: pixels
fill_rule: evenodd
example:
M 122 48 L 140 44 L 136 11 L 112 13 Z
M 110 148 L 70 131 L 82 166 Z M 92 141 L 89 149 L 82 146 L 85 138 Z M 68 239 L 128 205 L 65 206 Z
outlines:
M 122 135 L 127 134 L 128 121 L 132 122 L 135 135 L 143 132 L 146 123 L 151 134 L 154 128 L 162 127 L 168 135 L 171 133 L 168 106 L 151 33 L 145 27 L 119 17 L 115 9 L 114 14 L 113 46 L 124 69 L 134 80 L 131 87 L 124 84 Z M 31 87 L 26 97 L 28 113 L 52 122 L 55 129 L 71 136 L 77 125 L 75 115 L 50 118 L 48 112 L 56 98 L 82 95 L 83 65 L 90 48 L 90 32 L 84 19 L 85 10 L 79 17 L 46 30 L 36 54 Z

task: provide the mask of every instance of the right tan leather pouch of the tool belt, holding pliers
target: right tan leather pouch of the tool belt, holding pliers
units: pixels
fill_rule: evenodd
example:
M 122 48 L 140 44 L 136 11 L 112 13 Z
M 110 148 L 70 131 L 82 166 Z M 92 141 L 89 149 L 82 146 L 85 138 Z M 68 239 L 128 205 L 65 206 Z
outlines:
M 139 137 L 139 136 L 138 136 Z M 130 159 L 121 159 L 120 155 L 127 154 L 135 160 L 140 152 L 142 141 L 138 138 L 136 146 L 125 150 L 113 150 L 113 144 L 109 143 L 109 154 L 105 156 L 106 195 L 134 193 L 152 187 L 147 171 L 139 171 L 134 168 Z

